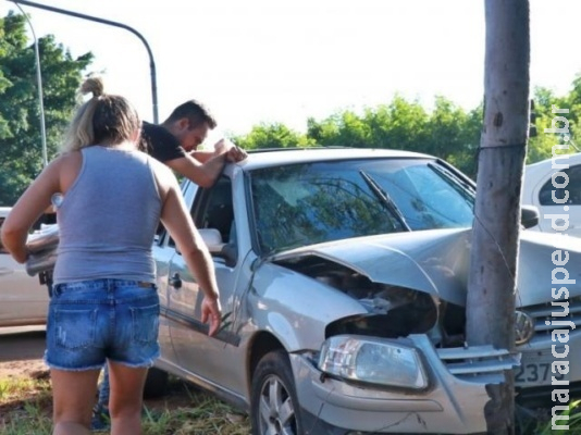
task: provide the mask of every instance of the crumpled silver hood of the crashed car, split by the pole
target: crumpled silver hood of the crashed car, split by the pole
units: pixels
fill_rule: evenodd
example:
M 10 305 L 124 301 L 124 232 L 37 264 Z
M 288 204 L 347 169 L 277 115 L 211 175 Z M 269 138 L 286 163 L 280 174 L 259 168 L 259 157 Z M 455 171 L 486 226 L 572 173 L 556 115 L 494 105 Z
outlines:
M 317 256 L 362 274 L 372 282 L 407 287 L 466 304 L 471 228 L 431 229 L 344 239 L 276 254 L 274 261 Z M 581 295 L 581 240 L 522 231 L 520 234 L 517 306 L 552 299 L 552 261 L 557 249 L 569 253 L 570 297 Z M 564 266 L 567 269 L 567 265 Z

